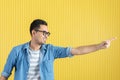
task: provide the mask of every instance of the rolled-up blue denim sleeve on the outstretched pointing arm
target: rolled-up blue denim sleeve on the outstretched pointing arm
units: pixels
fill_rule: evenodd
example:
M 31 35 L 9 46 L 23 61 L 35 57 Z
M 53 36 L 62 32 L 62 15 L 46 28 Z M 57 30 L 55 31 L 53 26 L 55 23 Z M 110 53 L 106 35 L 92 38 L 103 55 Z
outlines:
M 53 46 L 53 55 L 54 58 L 65 58 L 65 57 L 72 57 L 71 47 L 58 47 Z

